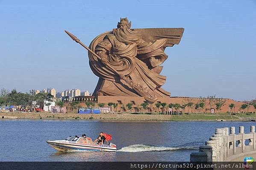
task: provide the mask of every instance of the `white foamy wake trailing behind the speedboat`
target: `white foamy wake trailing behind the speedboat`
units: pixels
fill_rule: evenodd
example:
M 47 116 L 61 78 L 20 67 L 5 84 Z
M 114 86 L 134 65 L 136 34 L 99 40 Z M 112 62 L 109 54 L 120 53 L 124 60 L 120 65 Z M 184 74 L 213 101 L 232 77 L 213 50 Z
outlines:
M 179 146 L 179 147 L 163 147 L 163 146 L 151 146 L 144 144 L 134 144 L 127 147 L 122 147 L 117 150 L 118 152 L 160 152 L 160 151 L 168 151 L 168 150 L 194 150 L 198 149 L 197 147 L 191 146 Z

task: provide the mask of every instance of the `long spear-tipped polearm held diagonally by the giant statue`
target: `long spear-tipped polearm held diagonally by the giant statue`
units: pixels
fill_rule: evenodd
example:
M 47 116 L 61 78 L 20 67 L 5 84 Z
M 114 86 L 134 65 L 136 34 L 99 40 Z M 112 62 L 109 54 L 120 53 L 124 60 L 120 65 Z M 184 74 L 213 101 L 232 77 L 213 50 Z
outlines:
M 84 45 L 76 36 L 74 36 L 73 34 L 71 34 L 70 32 L 66 31 L 65 32 L 69 35 L 69 37 L 71 37 L 72 40 L 76 41 L 77 43 L 79 43 L 80 45 L 82 45 L 84 48 L 86 48 L 91 54 L 93 54 L 94 56 L 97 57 L 97 59 L 101 60 L 100 56 L 98 56 L 94 51 L 92 51 L 90 48 L 88 48 L 86 45 Z M 143 88 L 142 85 L 138 84 L 138 83 L 134 83 L 131 79 L 128 79 L 127 77 L 124 76 L 124 74 L 119 74 L 118 71 L 115 70 L 115 68 L 112 67 L 112 65 L 110 65 L 109 63 L 105 64 L 107 67 L 109 67 L 112 71 L 115 72 L 115 74 L 117 74 L 121 79 L 123 79 L 125 82 L 127 82 L 127 84 L 129 86 L 132 87 L 132 89 L 134 89 L 138 94 L 140 94 L 141 96 L 144 97 L 144 99 L 146 99 L 149 102 L 155 102 L 157 100 L 157 98 L 155 97 L 155 94 L 149 94 L 148 91 Z

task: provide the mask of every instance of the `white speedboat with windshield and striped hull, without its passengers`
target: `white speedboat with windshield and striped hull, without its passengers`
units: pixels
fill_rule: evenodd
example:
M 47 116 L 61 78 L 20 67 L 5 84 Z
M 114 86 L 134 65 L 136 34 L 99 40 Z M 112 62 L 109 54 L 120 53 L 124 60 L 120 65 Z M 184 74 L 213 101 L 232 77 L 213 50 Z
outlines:
M 109 144 L 97 144 L 88 138 L 80 136 L 69 136 L 65 140 L 49 140 L 46 141 L 51 147 L 59 151 L 116 151 L 116 145 Z

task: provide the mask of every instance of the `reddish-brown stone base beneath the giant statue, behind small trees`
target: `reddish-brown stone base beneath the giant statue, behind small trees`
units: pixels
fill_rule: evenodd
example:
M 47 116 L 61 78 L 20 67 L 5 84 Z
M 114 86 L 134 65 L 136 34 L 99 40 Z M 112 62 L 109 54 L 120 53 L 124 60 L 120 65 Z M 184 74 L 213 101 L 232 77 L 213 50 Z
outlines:
M 232 109 L 232 112 L 238 112 L 237 108 L 240 108 L 242 104 L 244 104 L 244 102 L 237 102 L 234 101 L 232 99 L 223 99 L 225 100 L 225 105 L 221 108 L 221 111 L 219 112 L 227 112 L 230 110 L 229 105 L 231 103 L 235 104 L 235 108 Z M 144 97 L 135 97 L 135 96 L 77 96 L 75 97 L 74 101 L 79 101 L 81 102 L 81 106 L 82 107 L 86 107 L 85 102 L 95 102 L 95 103 L 105 103 L 105 106 L 108 106 L 109 102 L 112 103 L 118 103 L 118 107 L 115 109 L 115 111 L 117 112 L 123 112 L 123 111 L 128 111 L 127 110 L 127 104 L 128 103 L 132 103 L 132 107 L 133 109 L 130 111 L 144 111 L 143 109 L 141 109 L 141 104 L 144 103 L 146 100 L 144 99 Z M 69 101 L 69 102 L 72 102 Z M 210 113 L 210 105 L 209 105 L 209 99 L 207 98 L 196 98 L 196 97 L 177 97 L 177 96 L 172 96 L 172 97 L 159 97 L 158 100 L 156 100 L 156 102 L 154 103 L 149 103 L 148 108 L 146 111 L 162 111 L 162 107 L 160 107 L 159 109 L 156 109 L 156 103 L 166 103 L 167 105 L 169 105 L 170 103 L 178 103 L 180 105 L 185 105 L 188 102 L 193 102 L 194 105 L 196 103 L 200 103 L 200 102 L 204 102 L 206 105 L 204 107 L 204 109 L 202 109 L 201 111 L 196 110 L 194 108 L 194 105 L 189 108 L 185 107 L 185 109 L 183 110 L 183 112 L 209 112 Z M 96 107 L 98 107 L 96 105 Z M 207 108 L 207 110 L 206 110 Z M 168 108 L 165 108 L 165 111 Z M 182 111 L 181 109 L 179 109 L 178 111 Z M 249 112 L 254 112 L 254 108 L 253 106 L 250 106 L 249 108 Z M 215 111 L 216 113 L 216 111 Z

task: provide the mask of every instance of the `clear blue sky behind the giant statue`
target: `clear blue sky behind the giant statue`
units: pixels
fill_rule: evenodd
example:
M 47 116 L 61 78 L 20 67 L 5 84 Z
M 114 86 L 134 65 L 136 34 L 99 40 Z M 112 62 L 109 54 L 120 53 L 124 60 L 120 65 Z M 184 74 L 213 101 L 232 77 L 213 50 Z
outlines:
M 93 92 L 87 51 L 64 30 L 89 45 L 120 17 L 132 28 L 185 28 L 165 50 L 171 96 L 256 98 L 255 0 L 0 0 L 0 88 Z

